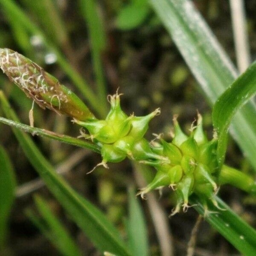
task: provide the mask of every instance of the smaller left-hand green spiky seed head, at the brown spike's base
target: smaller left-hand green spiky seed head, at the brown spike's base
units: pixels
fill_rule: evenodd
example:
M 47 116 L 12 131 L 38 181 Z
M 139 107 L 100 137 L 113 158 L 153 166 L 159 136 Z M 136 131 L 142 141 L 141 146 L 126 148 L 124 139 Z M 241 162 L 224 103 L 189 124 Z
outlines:
M 169 163 L 167 157 L 155 153 L 150 143 L 143 137 L 148 130 L 149 121 L 160 113 L 160 109 L 147 116 L 127 116 L 120 107 L 120 95 L 110 96 L 111 109 L 105 120 L 74 122 L 86 128 L 90 134 L 84 137 L 96 140 L 101 145 L 102 164 L 117 163 L 129 157 L 136 161 L 152 160 Z M 106 166 L 106 165 L 105 165 Z

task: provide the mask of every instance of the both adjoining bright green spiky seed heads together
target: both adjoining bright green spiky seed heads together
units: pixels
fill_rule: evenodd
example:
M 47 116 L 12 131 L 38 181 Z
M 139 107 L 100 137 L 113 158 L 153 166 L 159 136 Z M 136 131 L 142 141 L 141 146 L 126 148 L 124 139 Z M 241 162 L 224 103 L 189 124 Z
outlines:
M 177 197 L 173 214 L 179 212 L 181 207 L 186 211 L 192 193 L 201 198 L 211 198 L 217 206 L 212 198 L 218 189 L 215 182 L 218 169 L 215 155 L 217 140 L 207 140 L 200 114 L 197 125 L 192 126 L 190 136 L 183 133 L 175 117 L 172 143 L 161 138 L 158 138 L 158 143 L 149 143 L 143 137 L 148 130 L 148 123 L 160 110 L 147 116 L 127 116 L 120 107 L 118 93 L 110 96 L 110 104 L 111 110 L 105 120 L 74 120 L 89 131 L 89 134 L 83 134 L 85 138 L 101 145 L 102 163 L 99 165 L 107 167 L 108 162 L 116 163 L 128 157 L 154 166 L 157 170 L 154 179 L 139 194 L 144 198 L 152 189 L 169 186 Z

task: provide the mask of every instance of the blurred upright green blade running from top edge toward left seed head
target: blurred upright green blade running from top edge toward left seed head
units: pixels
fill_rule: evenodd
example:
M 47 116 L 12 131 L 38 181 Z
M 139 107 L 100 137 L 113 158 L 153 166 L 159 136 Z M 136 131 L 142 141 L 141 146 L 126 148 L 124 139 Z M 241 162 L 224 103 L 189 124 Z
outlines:
M 95 0 L 80 0 L 80 6 L 84 20 L 87 23 L 90 36 L 93 66 L 99 99 L 101 100 L 101 105 L 104 106 L 105 113 L 107 113 L 107 93 L 101 59 L 102 51 L 106 48 L 106 35 L 102 24 L 102 18 L 97 12 Z

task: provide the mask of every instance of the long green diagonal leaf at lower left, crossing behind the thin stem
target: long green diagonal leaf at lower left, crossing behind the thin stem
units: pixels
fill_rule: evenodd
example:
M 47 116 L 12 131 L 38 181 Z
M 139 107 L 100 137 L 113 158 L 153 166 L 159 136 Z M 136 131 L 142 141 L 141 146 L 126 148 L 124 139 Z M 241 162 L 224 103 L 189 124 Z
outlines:
M 2 92 L 0 92 L 0 101 L 6 116 L 19 122 Z M 113 227 L 105 215 L 76 193 L 61 176 L 56 174 L 54 168 L 27 134 L 17 128 L 13 128 L 13 132 L 26 157 L 44 180 L 48 189 L 93 244 L 101 252 L 109 251 L 117 255 L 130 255 L 118 230 Z

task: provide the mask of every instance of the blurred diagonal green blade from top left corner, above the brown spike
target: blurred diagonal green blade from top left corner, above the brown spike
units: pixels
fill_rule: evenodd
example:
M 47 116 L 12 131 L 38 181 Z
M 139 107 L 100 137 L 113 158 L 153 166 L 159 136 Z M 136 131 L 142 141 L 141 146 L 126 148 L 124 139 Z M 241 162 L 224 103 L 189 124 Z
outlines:
M 74 68 L 69 64 L 69 62 L 65 59 L 62 53 L 58 50 L 58 48 L 55 47 L 47 39 L 47 37 L 44 35 L 44 32 L 42 32 L 38 28 L 38 26 L 36 26 L 31 20 L 29 20 L 29 18 L 26 16 L 23 10 L 20 9 L 17 3 L 15 3 L 13 0 L 3 0 L 0 1 L 0 5 L 3 6 L 3 9 L 5 10 L 7 15 L 11 15 L 13 18 L 15 18 L 16 22 L 22 25 L 24 28 L 26 28 L 31 34 L 39 35 L 42 38 L 45 46 L 50 51 L 55 53 L 55 55 L 57 56 L 58 64 L 67 74 L 67 76 L 70 77 L 74 85 L 81 91 L 85 99 L 88 100 L 90 105 L 92 105 L 92 107 L 97 113 L 103 115 L 103 113 L 101 112 L 101 107 L 99 105 L 98 99 L 89 87 L 89 85 L 84 81 L 84 79 L 79 75 L 79 73 L 77 73 L 76 70 L 74 70 Z

